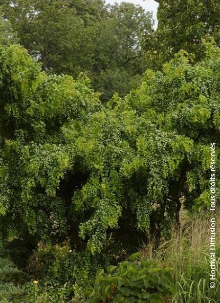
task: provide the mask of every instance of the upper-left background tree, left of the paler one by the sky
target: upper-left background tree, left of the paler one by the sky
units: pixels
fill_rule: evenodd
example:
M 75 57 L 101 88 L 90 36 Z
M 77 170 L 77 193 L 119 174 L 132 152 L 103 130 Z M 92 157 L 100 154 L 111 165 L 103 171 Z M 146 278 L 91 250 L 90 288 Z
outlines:
M 4 16 L 14 24 L 20 43 L 43 63 L 44 70 L 77 77 L 80 71 L 91 68 L 94 16 L 88 15 L 86 23 L 70 1 L 4 2 Z

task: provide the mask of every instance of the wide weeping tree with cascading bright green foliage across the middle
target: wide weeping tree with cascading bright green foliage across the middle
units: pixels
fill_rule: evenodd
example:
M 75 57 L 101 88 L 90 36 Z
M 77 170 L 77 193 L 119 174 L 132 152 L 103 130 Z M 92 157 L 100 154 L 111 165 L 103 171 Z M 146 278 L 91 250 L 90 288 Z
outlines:
M 38 241 L 66 239 L 79 252 L 114 241 L 136 250 L 143 240 L 158 243 L 171 221 L 179 226 L 181 207 L 207 207 L 220 50 L 204 47 L 201 63 L 180 52 L 106 107 L 85 76 L 48 76 L 22 47 L 1 47 L 3 240 L 27 254 Z

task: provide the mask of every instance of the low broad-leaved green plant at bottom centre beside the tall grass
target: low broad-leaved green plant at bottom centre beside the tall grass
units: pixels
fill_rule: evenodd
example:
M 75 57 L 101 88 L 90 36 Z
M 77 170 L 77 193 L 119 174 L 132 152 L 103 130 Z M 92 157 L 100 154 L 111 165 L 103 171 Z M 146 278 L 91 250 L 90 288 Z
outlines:
M 94 288 L 87 292 L 87 303 L 152 302 L 163 303 L 174 292 L 170 267 L 155 267 L 134 253 L 118 266 L 108 266 L 107 273 L 97 272 Z

